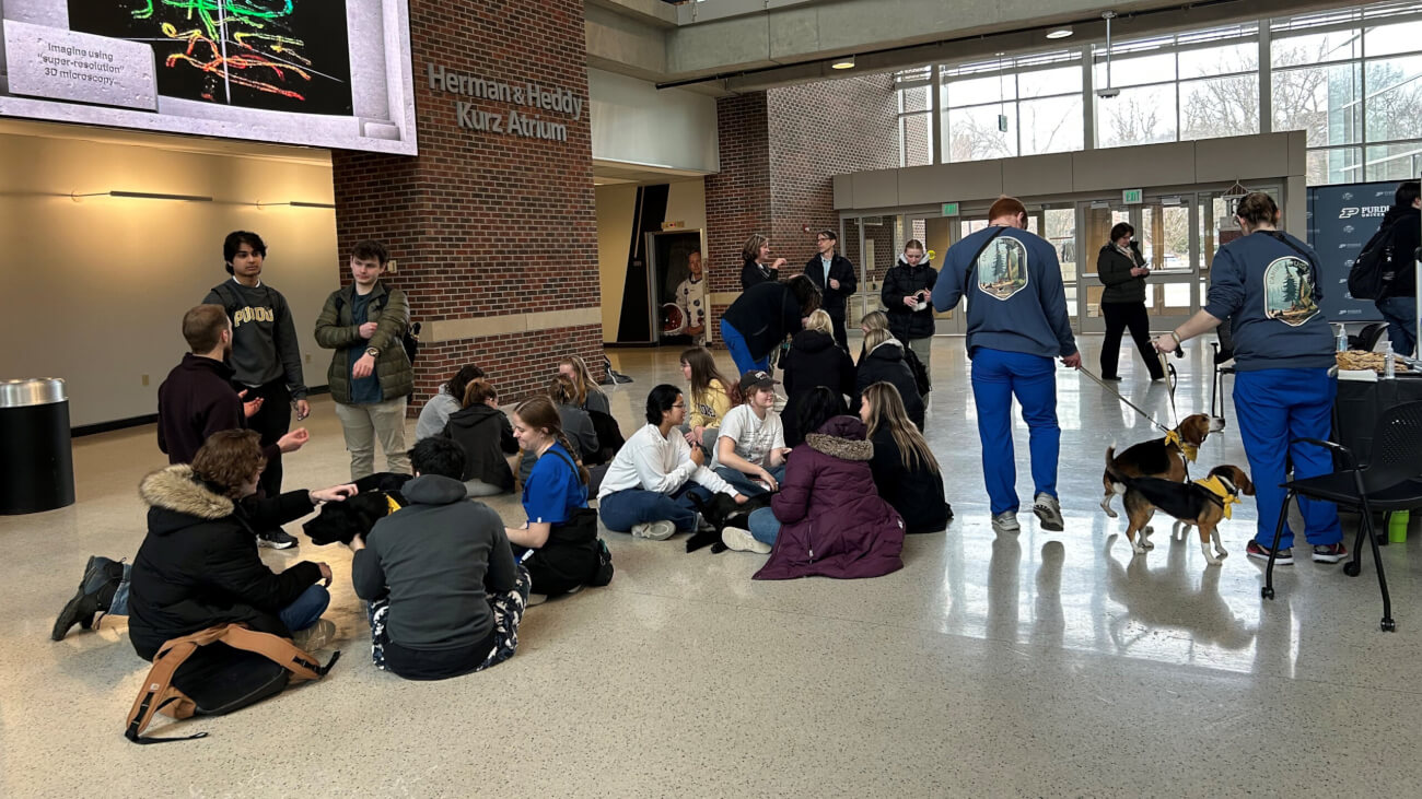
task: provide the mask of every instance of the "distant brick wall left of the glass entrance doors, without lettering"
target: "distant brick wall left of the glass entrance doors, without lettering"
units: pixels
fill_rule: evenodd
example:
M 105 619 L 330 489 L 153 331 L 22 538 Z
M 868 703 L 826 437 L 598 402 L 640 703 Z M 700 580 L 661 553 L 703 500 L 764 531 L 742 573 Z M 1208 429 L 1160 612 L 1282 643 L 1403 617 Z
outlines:
M 741 290 L 751 233 L 769 236 L 788 260 L 782 276 L 799 273 L 816 252 L 815 230 L 839 230 L 833 176 L 899 166 L 897 109 L 890 75 L 718 100 L 721 172 L 705 179 L 711 291 Z M 712 303 L 712 324 L 724 310 Z

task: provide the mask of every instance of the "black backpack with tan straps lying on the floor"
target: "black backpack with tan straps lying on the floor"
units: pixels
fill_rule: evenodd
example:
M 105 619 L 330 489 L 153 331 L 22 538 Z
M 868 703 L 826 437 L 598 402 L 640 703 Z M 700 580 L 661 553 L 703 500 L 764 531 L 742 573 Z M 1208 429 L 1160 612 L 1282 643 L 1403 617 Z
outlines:
M 173 638 L 154 655 L 154 667 L 128 711 L 124 736 L 134 744 L 206 738 L 206 732 L 181 738 L 148 738 L 142 732 L 158 712 L 183 719 L 253 705 L 280 694 L 292 681 L 320 680 L 340 657 L 336 653 L 321 665 L 289 638 L 240 624 L 219 624 Z

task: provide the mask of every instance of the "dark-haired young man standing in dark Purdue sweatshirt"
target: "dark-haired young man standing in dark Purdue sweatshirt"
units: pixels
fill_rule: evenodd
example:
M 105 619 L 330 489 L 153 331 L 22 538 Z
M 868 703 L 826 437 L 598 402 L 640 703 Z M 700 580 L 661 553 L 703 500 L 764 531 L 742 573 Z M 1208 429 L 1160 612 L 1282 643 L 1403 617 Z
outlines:
M 301 381 L 301 350 L 296 341 L 296 323 L 286 297 L 262 281 L 266 242 L 250 230 L 233 230 L 222 242 L 222 259 L 232 276 L 203 299 L 203 304 L 222 306 L 232 320 L 232 371 L 247 402 L 260 400 L 247 428 L 257 431 L 262 446 L 270 448 L 292 429 L 292 405 L 297 421 L 311 414 Z M 257 488 L 266 496 L 282 493 L 282 459 L 267 461 Z M 282 532 L 257 533 L 263 546 L 286 549 L 296 539 Z

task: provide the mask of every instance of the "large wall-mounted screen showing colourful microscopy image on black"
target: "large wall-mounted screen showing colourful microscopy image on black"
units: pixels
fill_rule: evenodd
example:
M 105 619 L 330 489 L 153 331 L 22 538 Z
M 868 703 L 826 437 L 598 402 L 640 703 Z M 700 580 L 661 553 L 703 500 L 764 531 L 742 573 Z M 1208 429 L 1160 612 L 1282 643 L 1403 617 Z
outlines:
M 417 152 L 405 0 L 3 0 L 0 14 L 0 117 Z

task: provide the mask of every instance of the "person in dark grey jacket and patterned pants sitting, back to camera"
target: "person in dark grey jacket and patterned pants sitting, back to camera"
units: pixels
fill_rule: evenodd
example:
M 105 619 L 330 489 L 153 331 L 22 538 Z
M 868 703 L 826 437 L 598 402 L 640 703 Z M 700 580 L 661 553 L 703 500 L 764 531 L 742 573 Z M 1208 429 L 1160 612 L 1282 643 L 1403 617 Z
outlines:
M 464 449 L 427 438 L 410 451 L 407 505 L 351 540 L 351 586 L 370 603 L 371 660 L 405 680 L 444 680 L 513 657 L 529 574 L 499 515 L 468 502 Z

